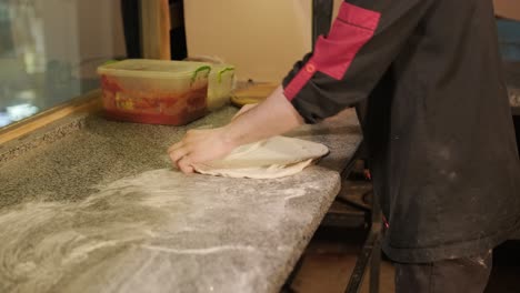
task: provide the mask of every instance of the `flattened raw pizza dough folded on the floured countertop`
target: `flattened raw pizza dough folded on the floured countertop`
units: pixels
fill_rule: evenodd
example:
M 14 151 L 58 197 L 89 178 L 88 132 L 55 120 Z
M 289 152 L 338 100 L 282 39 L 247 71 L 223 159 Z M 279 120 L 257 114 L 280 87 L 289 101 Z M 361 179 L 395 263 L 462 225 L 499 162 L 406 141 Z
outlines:
M 296 174 L 328 152 L 321 143 L 273 137 L 239 146 L 224 159 L 193 164 L 193 169 L 209 175 L 273 179 Z

